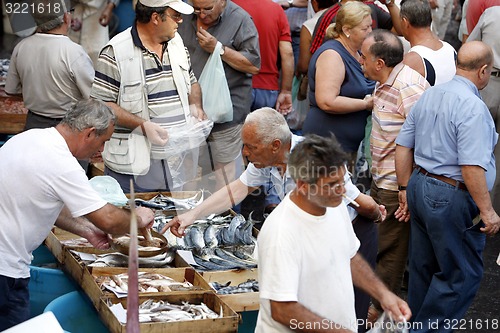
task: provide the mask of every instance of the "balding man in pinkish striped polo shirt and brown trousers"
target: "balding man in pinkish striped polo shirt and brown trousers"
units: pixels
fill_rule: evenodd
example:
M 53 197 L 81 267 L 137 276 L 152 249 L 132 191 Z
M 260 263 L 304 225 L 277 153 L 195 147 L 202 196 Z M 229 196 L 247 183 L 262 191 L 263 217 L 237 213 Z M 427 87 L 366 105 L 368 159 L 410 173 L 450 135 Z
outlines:
M 388 30 L 374 30 L 363 42 L 361 52 L 365 76 L 378 81 L 370 137 L 373 160 L 370 194 L 387 209 L 387 218 L 378 228 L 376 271 L 389 289 L 398 294 L 408 256 L 410 226 L 406 223 L 408 218 L 398 220 L 395 216 L 399 206 L 395 141 L 411 107 L 429 83 L 417 71 L 402 63 L 403 45 Z M 375 306 L 380 305 L 375 303 Z

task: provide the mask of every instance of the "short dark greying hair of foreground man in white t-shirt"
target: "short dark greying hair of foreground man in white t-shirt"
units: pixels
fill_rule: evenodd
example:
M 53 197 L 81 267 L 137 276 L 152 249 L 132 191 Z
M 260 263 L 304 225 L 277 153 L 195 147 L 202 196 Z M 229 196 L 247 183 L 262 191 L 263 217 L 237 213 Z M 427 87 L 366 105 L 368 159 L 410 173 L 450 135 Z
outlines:
M 290 153 L 288 172 L 292 179 L 315 184 L 344 168 L 347 154 L 335 138 L 310 134 L 299 142 Z

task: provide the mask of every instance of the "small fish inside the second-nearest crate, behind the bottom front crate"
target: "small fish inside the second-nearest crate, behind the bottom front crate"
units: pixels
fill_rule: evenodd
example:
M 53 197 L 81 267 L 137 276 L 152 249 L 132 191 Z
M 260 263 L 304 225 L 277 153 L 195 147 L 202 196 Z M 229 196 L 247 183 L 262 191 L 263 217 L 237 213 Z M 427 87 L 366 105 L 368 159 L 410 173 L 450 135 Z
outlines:
M 139 272 L 139 292 L 170 292 L 170 291 L 187 291 L 200 290 L 200 287 L 195 287 L 188 281 L 179 282 L 174 279 L 157 274 Z M 101 275 L 95 278 L 99 287 L 104 290 L 108 289 L 114 293 L 126 294 L 128 292 L 128 273 L 117 275 Z

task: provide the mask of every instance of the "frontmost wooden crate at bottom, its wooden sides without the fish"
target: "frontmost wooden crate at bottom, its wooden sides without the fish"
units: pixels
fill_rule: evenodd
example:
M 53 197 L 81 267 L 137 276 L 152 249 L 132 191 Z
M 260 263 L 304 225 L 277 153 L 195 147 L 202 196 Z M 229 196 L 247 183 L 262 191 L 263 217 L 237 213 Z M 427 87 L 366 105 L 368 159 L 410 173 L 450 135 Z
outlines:
M 222 317 L 217 319 L 199 319 L 177 322 L 141 323 L 139 325 L 141 333 L 230 333 L 238 331 L 238 314 L 212 291 L 193 291 L 185 294 L 169 294 L 152 297 L 140 296 L 139 304 L 142 304 L 148 299 L 153 299 L 155 301 L 163 300 L 171 304 L 181 304 L 186 301 L 191 304 L 200 304 L 203 302 L 216 313 L 220 314 L 222 311 Z M 121 303 L 126 309 L 126 299 L 118 299 L 116 297 L 101 298 L 101 310 L 99 315 L 111 333 L 126 333 L 126 325 L 119 322 L 108 305 L 118 303 Z

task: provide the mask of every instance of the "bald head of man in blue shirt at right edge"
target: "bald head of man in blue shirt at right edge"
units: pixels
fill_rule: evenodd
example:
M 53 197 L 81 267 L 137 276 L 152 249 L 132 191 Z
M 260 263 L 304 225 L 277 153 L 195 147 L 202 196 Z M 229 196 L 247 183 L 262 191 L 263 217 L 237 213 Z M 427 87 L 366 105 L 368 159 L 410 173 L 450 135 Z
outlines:
M 488 85 L 493 66 L 493 51 L 483 42 L 467 42 L 457 55 L 457 75 L 463 76 L 479 89 Z

